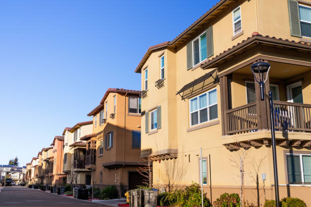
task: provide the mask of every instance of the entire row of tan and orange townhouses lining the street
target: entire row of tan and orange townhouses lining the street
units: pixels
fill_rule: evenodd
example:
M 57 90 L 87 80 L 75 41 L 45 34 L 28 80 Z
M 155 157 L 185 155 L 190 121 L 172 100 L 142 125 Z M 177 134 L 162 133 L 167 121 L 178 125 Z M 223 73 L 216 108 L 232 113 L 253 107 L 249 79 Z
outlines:
M 242 171 L 246 200 L 274 199 L 269 103 L 251 72 L 259 60 L 270 64 L 264 90 L 273 92 L 280 197 L 311 205 L 310 0 L 221 0 L 148 48 L 135 70 L 140 93 L 109 89 L 88 114 L 92 122 L 66 128 L 27 166 L 40 166 L 48 151 L 51 182 L 130 189 L 137 163 L 149 158 L 159 189 L 202 177 L 213 201 L 240 192 Z

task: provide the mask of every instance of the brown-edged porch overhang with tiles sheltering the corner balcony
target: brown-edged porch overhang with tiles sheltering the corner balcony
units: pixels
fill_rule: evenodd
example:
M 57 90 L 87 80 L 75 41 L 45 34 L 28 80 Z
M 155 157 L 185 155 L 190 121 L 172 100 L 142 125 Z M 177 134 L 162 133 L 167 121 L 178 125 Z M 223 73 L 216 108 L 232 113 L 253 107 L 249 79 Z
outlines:
M 229 48 L 228 50 L 216 55 L 215 57 L 207 60 L 201 65 L 203 70 L 219 67 L 224 62 L 236 57 L 237 55 L 250 50 L 258 45 L 277 47 L 277 48 L 288 48 L 295 49 L 303 52 L 311 52 L 311 44 L 295 42 L 289 40 L 283 40 L 282 38 L 275 38 L 269 36 L 262 36 L 260 34 L 254 34 L 253 37 L 249 37 L 243 40 L 241 43 Z

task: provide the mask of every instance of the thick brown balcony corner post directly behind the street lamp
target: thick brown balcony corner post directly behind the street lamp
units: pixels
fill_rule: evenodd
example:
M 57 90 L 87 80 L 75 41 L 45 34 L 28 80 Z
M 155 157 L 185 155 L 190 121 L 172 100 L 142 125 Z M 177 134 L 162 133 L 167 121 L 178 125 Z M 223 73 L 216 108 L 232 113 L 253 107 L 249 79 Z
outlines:
M 258 76 L 258 74 L 256 74 Z M 266 76 L 266 74 L 265 74 Z M 259 80 L 259 77 L 256 77 Z M 254 81 L 255 82 L 255 81 Z M 269 76 L 265 82 L 265 93 L 268 94 L 270 90 Z M 270 119 L 268 118 L 269 112 L 269 101 L 267 98 L 264 100 L 260 99 L 260 86 L 255 82 L 255 95 L 256 95 L 256 112 L 258 121 L 258 130 L 269 129 Z

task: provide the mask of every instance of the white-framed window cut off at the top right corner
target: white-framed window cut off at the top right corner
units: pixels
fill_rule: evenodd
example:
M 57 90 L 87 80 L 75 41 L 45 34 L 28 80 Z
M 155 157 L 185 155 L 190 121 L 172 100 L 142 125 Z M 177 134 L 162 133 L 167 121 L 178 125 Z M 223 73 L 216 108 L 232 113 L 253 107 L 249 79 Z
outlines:
M 301 35 L 311 38 L 311 7 L 299 5 Z

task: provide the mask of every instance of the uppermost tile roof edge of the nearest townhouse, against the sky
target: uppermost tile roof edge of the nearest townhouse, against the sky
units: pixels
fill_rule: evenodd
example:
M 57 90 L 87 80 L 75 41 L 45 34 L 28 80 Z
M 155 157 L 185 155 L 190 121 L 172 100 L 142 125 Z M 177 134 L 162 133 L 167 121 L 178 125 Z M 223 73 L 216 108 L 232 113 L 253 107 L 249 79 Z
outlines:
M 144 54 L 143 58 L 139 62 L 138 66 L 136 67 L 135 73 L 141 73 L 141 66 L 145 62 L 144 60 L 146 60 L 148 58 L 148 56 L 150 55 L 152 50 L 159 49 L 163 46 L 174 46 L 174 44 L 177 43 L 177 41 L 179 41 L 181 38 L 183 39 L 183 41 L 186 41 L 188 39 L 188 37 L 185 38 L 184 36 L 187 36 L 187 35 L 190 36 L 190 34 L 188 34 L 188 33 L 191 32 L 191 30 L 193 30 L 199 24 L 205 24 L 206 18 L 208 18 L 212 13 L 214 13 L 217 9 L 220 9 L 222 6 L 228 7 L 228 4 L 231 4 L 231 3 L 233 3 L 233 1 L 220 0 L 218 3 L 216 3 L 214 6 L 212 6 L 205 14 L 203 14 L 200 18 L 198 18 L 195 22 L 193 22 L 188 28 L 183 30 L 172 41 L 164 42 L 164 43 L 161 43 L 159 45 L 154 45 L 152 47 L 149 47 L 147 52 Z M 217 15 L 214 14 L 213 16 L 217 16 Z

